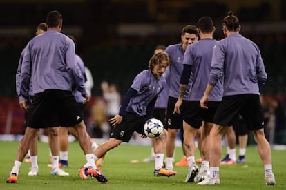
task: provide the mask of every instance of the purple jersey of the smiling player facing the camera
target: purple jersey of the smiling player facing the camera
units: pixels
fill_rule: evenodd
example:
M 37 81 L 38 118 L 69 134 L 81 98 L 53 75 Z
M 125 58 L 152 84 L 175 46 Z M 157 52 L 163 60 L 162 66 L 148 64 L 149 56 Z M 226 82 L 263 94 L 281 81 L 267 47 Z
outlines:
M 182 48 L 182 44 L 175 44 L 166 47 L 165 52 L 169 54 L 171 59 L 171 63 L 169 65 L 170 67 L 169 96 L 173 98 L 178 98 L 180 79 L 183 70 L 182 61 L 184 60 L 184 49 Z M 184 100 L 187 100 L 189 96 L 190 87 L 191 87 L 191 78 L 186 93 L 184 94 Z

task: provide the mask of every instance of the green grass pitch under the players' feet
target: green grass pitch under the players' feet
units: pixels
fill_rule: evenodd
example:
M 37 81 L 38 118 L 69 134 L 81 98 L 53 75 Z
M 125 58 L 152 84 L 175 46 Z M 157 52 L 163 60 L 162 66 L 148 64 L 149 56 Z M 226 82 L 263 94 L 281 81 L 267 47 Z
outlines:
M 95 178 L 82 180 L 79 177 L 79 167 L 86 162 L 78 142 L 71 142 L 68 150 L 69 167 L 64 170 L 70 176 L 51 176 L 48 144 L 39 142 L 39 175 L 28 176 L 30 163 L 23 162 L 17 183 L 7 184 L 6 179 L 14 163 L 19 142 L 0 142 L 0 189 L 286 189 L 286 151 L 272 149 L 272 161 L 277 185 L 265 185 L 263 164 L 258 156 L 257 147 L 247 147 L 246 163 L 220 166 L 220 185 L 198 186 L 195 183 L 185 183 L 187 167 L 175 167 L 178 171 L 173 177 L 153 176 L 154 162 L 144 163 L 142 159 L 150 156 L 150 146 L 122 144 L 112 149 L 106 155 L 102 170 L 108 178 L 107 184 L 99 184 Z M 225 156 L 225 148 L 222 156 Z M 238 152 L 238 148 L 237 148 Z M 237 153 L 238 154 L 238 153 Z M 199 158 L 196 150 L 196 158 Z M 176 147 L 175 160 L 182 158 L 182 147 Z M 139 163 L 131 163 L 139 160 Z

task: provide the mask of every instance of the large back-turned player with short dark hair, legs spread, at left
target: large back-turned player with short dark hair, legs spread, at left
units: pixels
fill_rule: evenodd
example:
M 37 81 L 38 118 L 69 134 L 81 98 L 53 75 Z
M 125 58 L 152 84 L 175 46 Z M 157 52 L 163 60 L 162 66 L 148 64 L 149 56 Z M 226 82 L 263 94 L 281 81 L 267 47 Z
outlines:
M 57 10 L 50 11 L 46 17 L 47 32 L 34 37 L 26 46 L 20 80 L 20 93 L 24 99 L 20 101 L 20 105 L 24 109 L 30 107 L 30 115 L 25 134 L 19 142 L 14 166 L 6 180 L 8 183 L 17 182 L 21 162 L 39 127 L 58 126 L 75 127 L 79 145 L 90 166 L 85 174 L 94 176 L 99 182 L 107 182 L 105 176 L 96 169 L 86 125 L 72 94 L 72 89 L 75 88 L 84 96 L 83 103 L 87 103 L 90 98 L 84 87 L 84 77 L 75 63 L 75 43 L 68 36 L 60 33 L 62 23 L 61 14 Z M 35 95 L 32 103 L 29 104 L 30 83 Z M 53 134 L 55 138 L 50 141 L 50 146 L 54 146 L 58 154 L 59 138 L 56 132 L 58 131 Z M 54 149 L 51 148 L 51 150 Z M 52 154 L 55 155 L 53 152 Z M 59 156 L 54 156 L 53 160 L 56 160 L 58 165 Z M 56 175 L 57 172 L 52 168 L 51 174 Z

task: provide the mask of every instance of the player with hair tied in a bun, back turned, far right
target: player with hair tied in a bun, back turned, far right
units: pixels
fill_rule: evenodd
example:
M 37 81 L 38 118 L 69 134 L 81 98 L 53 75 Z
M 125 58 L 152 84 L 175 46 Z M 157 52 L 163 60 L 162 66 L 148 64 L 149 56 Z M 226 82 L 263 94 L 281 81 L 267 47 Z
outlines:
M 223 76 L 223 96 L 213 117 L 209 141 L 210 175 L 200 185 L 220 184 L 219 165 L 222 154 L 221 140 L 227 127 L 233 124 L 238 114 L 247 121 L 258 145 L 258 154 L 265 169 L 267 185 L 276 184 L 271 165 L 271 149 L 263 131 L 263 113 L 260 105 L 260 87 L 267 80 L 267 74 L 258 46 L 243 37 L 240 23 L 233 12 L 228 12 L 222 21 L 222 31 L 226 38 L 213 47 L 209 83 L 200 99 L 202 108 L 212 89 Z

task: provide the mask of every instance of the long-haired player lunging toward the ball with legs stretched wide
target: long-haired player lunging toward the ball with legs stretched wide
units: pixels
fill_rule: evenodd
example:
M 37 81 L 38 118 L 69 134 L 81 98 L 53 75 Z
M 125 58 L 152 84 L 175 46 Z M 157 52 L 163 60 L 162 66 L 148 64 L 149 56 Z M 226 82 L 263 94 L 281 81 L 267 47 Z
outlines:
M 119 114 L 109 120 L 115 128 L 111 138 L 95 150 L 96 158 L 101 158 L 110 149 L 119 146 L 121 142 L 129 142 L 134 131 L 146 137 L 144 124 L 152 116 L 155 101 L 166 85 L 166 79 L 162 74 L 169 63 L 169 55 L 159 52 L 151 57 L 149 70 L 143 70 L 137 74 L 124 96 Z M 177 173 L 164 168 L 166 137 L 167 131 L 164 129 L 162 136 L 155 138 L 155 176 L 174 176 Z

